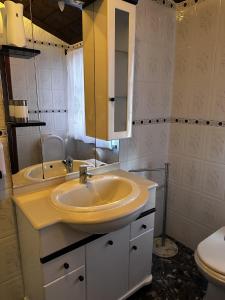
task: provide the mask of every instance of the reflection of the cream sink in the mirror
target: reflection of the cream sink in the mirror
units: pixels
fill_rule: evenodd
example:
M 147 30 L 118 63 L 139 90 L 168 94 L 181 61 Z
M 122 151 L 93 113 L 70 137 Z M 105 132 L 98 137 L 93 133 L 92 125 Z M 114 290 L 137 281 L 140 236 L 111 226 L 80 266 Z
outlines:
M 78 172 L 81 165 L 87 165 L 94 167 L 94 165 L 85 160 L 74 160 L 73 161 L 73 172 Z M 43 178 L 44 172 L 44 178 Z M 65 176 L 67 174 L 66 167 L 61 160 L 44 162 L 42 164 L 37 164 L 28 167 L 24 171 L 25 178 L 32 181 L 43 181 L 48 178 L 53 178 L 57 176 Z

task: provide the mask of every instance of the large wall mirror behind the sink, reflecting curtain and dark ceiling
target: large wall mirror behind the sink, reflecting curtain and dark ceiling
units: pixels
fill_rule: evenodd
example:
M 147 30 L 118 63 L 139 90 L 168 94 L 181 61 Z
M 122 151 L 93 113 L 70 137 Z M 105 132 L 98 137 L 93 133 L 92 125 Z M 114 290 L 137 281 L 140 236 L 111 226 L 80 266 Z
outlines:
M 93 168 L 117 162 L 117 140 L 86 134 L 81 2 L 14 2 L 24 5 L 26 46 L 5 46 L 2 34 L 0 56 L 14 186 L 65 176 L 81 164 Z M 93 44 L 93 61 L 94 49 Z M 94 79 L 89 81 L 93 99 Z M 22 109 L 26 104 L 28 120 L 10 115 L 10 105 Z M 92 128 L 95 123 L 93 107 Z

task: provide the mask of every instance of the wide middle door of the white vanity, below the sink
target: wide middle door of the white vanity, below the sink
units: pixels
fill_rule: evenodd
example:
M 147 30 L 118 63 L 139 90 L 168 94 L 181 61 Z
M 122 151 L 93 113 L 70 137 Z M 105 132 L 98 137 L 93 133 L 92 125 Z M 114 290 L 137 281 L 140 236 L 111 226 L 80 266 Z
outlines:
M 129 226 L 86 248 L 87 299 L 117 300 L 128 290 Z

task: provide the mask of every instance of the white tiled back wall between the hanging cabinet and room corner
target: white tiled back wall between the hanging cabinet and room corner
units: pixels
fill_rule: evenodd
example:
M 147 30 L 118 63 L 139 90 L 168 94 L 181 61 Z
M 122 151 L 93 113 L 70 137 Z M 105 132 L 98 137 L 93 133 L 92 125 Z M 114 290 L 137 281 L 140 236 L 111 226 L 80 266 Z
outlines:
M 175 11 L 154 1 L 137 5 L 133 119 L 170 115 L 175 44 Z M 159 167 L 168 159 L 168 124 L 133 127 L 133 137 L 120 141 L 120 162 L 125 170 Z M 140 174 L 162 183 L 159 174 Z M 162 226 L 163 191 L 157 192 L 156 230 Z

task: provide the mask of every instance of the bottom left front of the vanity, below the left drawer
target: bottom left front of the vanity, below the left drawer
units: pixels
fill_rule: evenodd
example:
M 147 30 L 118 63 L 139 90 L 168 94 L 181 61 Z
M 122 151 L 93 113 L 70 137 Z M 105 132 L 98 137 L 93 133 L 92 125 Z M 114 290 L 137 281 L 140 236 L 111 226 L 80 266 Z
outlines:
M 45 300 L 85 300 L 85 267 L 44 286 Z

